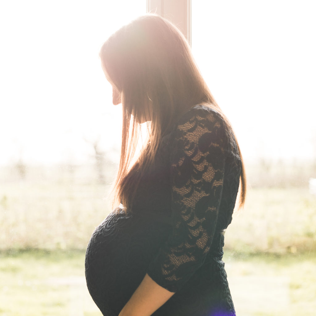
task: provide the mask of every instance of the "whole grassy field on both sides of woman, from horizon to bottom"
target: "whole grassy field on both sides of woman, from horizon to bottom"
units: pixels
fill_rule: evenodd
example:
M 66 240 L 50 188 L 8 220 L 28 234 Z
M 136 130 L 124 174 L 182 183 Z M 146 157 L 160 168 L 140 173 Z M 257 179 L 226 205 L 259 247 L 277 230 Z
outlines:
M 225 234 L 237 315 L 315 314 L 316 196 L 308 170 L 299 185 L 273 178 L 275 171 L 266 185 L 250 177 L 245 208 Z M 21 179 L 0 170 L 1 316 L 101 315 L 86 288 L 84 250 L 111 204 L 109 186 L 92 171 L 28 168 Z M 108 180 L 113 168 L 106 171 Z

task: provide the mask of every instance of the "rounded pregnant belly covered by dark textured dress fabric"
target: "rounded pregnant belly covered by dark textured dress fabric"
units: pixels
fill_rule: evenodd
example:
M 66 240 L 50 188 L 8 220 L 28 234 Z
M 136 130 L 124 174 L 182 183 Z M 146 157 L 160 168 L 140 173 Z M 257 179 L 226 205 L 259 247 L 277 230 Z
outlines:
M 104 315 L 124 307 L 169 231 L 166 224 L 124 212 L 112 212 L 95 229 L 86 252 L 86 280 Z

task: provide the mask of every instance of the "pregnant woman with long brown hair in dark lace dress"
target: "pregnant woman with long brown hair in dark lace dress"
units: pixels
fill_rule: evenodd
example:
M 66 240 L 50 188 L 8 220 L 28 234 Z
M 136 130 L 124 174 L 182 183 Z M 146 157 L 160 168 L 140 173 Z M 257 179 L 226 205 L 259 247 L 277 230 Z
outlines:
M 106 316 L 235 315 L 222 256 L 246 179 L 228 119 L 184 36 L 158 15 L 120 28 L 100 58 L 123 128 L 119 206 L 86 253 L 94 302 Z M 135 157 L 142 123 L 148 139 Z

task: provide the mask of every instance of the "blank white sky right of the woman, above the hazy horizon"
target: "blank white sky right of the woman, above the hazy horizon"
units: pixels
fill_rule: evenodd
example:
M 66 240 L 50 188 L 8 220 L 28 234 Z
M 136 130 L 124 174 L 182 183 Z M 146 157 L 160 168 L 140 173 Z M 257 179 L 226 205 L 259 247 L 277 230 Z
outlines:
M 315 155 L 314 16 L 314 1 L 192 2 L 194 56 L 246 159 Z

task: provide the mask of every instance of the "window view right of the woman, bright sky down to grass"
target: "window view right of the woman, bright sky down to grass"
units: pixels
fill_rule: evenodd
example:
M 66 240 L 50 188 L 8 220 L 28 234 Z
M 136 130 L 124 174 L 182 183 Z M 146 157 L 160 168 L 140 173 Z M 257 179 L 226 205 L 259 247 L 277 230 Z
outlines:
M 237 315 L 316 307 L 314 12 L 313 1 L 192 1 L 193 54 L 246 162 L 246 206 L 225 234 Z

